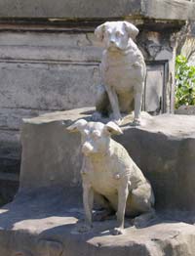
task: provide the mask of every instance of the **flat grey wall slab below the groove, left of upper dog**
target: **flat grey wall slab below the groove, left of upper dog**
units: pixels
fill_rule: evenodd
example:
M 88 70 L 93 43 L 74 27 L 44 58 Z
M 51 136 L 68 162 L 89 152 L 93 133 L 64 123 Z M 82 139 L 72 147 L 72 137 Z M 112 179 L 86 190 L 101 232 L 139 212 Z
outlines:
M 0 63 L 0 107 L 54 110 L 92 106 L 96 68 L 93 64 Z

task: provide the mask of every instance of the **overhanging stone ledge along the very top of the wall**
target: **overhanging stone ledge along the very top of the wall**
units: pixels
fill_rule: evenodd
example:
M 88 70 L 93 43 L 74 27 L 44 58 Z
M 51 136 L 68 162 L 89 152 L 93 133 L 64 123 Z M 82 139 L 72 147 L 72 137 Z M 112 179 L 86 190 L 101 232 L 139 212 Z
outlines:
M 108 8 L 109 7 L 109 8 Z M 96 19 L 142 16 L 163 20 L 194 20 L 194 3 L 184 0 L 1 0 L 1 18 Z

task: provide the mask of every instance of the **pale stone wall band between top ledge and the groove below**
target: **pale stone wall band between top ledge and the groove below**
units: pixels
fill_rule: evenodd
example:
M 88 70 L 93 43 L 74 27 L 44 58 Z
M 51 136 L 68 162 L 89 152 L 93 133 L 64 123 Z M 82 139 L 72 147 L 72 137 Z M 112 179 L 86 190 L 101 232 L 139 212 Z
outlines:
M 73 29 L 73 28 L 72 28 Z M 31 62 L 99 62 L 102 45 L 97 42 L 91 32 L 74 30 L 63 31 L 22 30 L 6 31 L 0 33 L 0 58 L 7 61 Z

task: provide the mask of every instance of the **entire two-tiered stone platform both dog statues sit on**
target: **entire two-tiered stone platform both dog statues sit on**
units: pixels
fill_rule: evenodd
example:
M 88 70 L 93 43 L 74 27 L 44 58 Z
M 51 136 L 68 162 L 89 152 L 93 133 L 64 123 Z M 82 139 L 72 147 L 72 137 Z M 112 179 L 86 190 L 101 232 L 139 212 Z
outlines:
M 20 191 L 0 210 L 0 255 L 195 255 L 195 116 L 143 112 L 137 128 L 129 125 L 128 116 L 124 134 L 115 139 L 150 180 L 157 216 L 144 229 L 126 220 L 126 234 L 117 237 L 110 235 L 114 220 L 77 234 L 76 223 L 84 216 L 80 136 L 67 133 L 65 126 L 79 118 L 90 120 L 92 111 L 74 109 L 23 121 Z

